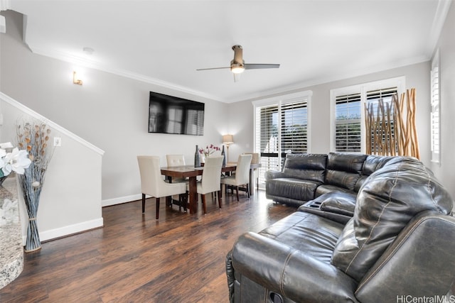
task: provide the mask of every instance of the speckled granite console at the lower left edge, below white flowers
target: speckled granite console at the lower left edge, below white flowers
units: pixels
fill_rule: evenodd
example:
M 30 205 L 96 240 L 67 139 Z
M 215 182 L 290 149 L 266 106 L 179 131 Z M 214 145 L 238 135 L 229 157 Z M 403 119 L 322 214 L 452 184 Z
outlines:
M 21 274 L 23 245 L 16 175 L 0 185 L 0 289 Z

